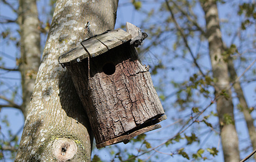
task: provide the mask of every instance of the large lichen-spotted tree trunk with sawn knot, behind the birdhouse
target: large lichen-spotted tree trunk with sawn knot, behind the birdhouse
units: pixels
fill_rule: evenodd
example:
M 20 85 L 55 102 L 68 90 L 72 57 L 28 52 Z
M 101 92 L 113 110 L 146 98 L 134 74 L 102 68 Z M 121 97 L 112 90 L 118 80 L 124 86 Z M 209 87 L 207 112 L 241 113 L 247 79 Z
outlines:
M 70 73 L 58 57 L 114 29 L 117 0 L 57 1 L 15 161 L 90 161 L 92 134 Z

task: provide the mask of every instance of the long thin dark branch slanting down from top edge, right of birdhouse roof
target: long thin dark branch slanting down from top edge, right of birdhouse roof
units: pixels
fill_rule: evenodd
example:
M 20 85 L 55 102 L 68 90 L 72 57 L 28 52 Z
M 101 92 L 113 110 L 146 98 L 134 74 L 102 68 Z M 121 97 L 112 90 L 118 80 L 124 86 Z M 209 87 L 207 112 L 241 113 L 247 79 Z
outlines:
M 202 74 L 202 76 L 205 77 L 205 74 L 202 72 L 200 66 L 199 66 L 198 63 L 196 62 L 196 59 L 195 59 L 195 57 L 194 57 L 194 55 L 193 55 L 193 52 L 192 52 L 191 48 L 190 48 L 189 45 L 188 45 L 186 36 L 184 35 L 184 33 L 183 33 L 182 29 L 180 28 L 179 24 L 176 22 L 176 19 L 175 19 L 175 17 L 174 17 L 173 11 L 172 11 L 172 9 L 170 8 L 170 5 L 169 5 L 168 1 L 165 0 L 165 2 L 166 2 L 166 5 L 167 5 L 168 10 L 170 11 L 170 15 L 171 15 L 172 18 L 173 18 L 173 22 L 174 22 L 174 24 L 175 24 L 175 26 L 176 26 L 176 29 L 180 32 L 180 34 L 181 34 L 181 36 L 182 36 L 182 38 L 183 38 L 183 41 L 184 41 L 184 43 L 185 43 L 185 45 L 186 45 L 186 47 L 187 47 L 189 53 L 191 54 L 191 57 L 192 57 L 193 60 L 194 60 L 195 66 L 198 68 L 198 70 L 200 71 L 200 73 Z

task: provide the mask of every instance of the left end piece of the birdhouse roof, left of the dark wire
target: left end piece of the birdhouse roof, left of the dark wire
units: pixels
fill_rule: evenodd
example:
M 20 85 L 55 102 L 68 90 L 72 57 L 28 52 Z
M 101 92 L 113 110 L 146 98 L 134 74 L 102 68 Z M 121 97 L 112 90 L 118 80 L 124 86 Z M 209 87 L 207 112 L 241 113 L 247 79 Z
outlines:
M 58 61 L 61 64 L 69 64 L 69 63 L 80 62 L 82 59 L 87 58 L 88 56 L 89 55 L 86 52 L 86 50 L 84 50 L 82 46 L 78 46 L 74 49 L 71 49 L 64 55 L 61 55 L 58 58 Z

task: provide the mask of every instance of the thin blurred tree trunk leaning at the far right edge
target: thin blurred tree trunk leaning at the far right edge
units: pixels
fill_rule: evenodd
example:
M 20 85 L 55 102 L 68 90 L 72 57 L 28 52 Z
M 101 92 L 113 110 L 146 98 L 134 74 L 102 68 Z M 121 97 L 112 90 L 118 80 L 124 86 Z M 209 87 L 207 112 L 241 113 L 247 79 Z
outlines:
M 234 82 L 234 80 L 237 79 L 238 76 L 237 76 L 237 72 L 235 72 L 232 58 L 229 58 L 228 60 L 228 71 L 229 71 L 229 75 L 231 77 L 232 82 Z M 245 117 L 245 121 L 246 121 L 247 129 L 249 132 L 249 136 L 251 139 L 253 150 L 255 150 L 256 149 L 256 130 L 253 124 L 254 120 L 251 116 L 249 107 L 245 100 L 244 92 L 242 91 L 240 82 L 239 81 L 235 82 L 233 87 L 234 87 L 235 93 L 237 93 L 237 97 L 240 102 L 240 109 L 242 113 L 244 113 L 244 117 Z M 254 159 L 256 160 L 256 154 L 254 154 Z

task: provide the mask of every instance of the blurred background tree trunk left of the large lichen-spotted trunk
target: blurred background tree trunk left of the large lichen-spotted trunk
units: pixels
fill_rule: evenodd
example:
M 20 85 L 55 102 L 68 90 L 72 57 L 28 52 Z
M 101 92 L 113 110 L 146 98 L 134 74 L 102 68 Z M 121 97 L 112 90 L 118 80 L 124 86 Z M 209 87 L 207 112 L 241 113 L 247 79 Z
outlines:
M 26 117 L 41 57 L 36 0 L 19 0 L 18 24 L 21 30 L 21 58 L 19 62 L 23 96 L 21 110 Z

